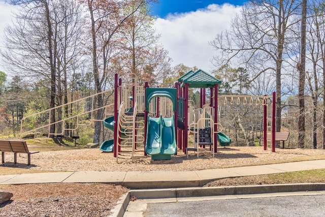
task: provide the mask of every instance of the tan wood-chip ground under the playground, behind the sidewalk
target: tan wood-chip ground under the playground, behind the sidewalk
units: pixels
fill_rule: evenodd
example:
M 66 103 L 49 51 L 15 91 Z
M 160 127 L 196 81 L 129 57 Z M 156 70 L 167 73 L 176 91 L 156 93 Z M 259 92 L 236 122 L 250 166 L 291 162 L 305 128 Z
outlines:
M 37 148 L 34 149 L 37 150 Z M 32 154 L 32 165 L 30 166 L 26 165 L 26 154 L 17 154 L 18 164 L 15 165 L 13 164 L 13 153 L 6 152 L 5 165 L 28 168 L 29 170 L 53 171 L 185 171 L 270 164 L 276 160 L 289 160 L 319 154 L 325 154 L 325 150 L 277 148 L 276 152 L 271 152 L 270 149 L 264 150 L 263 147 L 220 147 L 215 158 L 212 158 L 212 154 L 206 148 L 205 151 L 200 151 L 199 158 L 191 151 L 187 159 L 179 151 L 177 156 L 172 156 L 172 160 L 151 161 L 149 156 L 144 156 L 142 149 L 136 151 L 133 161 L 131 152 L 122 152 L 117 163 L 113 153 L 105 153 L 98 148 L 92 148 Z

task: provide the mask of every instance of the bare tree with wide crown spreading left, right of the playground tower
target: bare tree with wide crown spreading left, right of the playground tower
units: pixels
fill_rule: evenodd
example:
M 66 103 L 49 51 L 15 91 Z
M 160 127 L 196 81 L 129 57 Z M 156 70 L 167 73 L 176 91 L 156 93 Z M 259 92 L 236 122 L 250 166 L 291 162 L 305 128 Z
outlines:
M 221 52 L 213 58 L 215 66 L 231 61 L 254 72 L 274 73 L 276 81 L 276 131 L 281 129 L 281 80 L 284 47 L 296 39 L 291 27 L 297 23 L 300 1 L 250 1 L 232 21 L 229 30 L 218 34 L 210 45 Z

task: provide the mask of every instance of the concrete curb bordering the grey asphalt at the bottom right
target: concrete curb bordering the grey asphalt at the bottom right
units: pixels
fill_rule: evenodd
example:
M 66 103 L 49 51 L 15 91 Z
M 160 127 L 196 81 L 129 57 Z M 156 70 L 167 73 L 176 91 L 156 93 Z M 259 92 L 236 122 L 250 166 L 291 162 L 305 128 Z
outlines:
M 171 188 L 171 189 L 149 189 L 131 190 L 112 210 L 110 216 L 122 217 L 125 213 L 130 197 L 138 199 L 159 198 L 185 198 L 206 197 L 221 195 L 249 195 L 284 192 L 313 192 L 325 191 L 325 183 L 294 183 L 294 184 L 264 184 L 264 185 L 240 185 L 229 187 L 201 187 L 201 188 Z

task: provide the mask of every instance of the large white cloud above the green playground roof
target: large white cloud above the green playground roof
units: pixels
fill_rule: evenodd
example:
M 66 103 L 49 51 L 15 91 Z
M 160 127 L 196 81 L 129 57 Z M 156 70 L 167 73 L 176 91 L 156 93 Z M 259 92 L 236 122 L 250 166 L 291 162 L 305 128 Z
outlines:
M 156 19 L 155 28 L 161 34 L 161 43 L 174 60 L 173 66 L 184 64 L 210 71 L 210 59 L 215 51 L 208 42 L 230 26 L 240 9 L 230 4 L 213 4 L 195 12 Z

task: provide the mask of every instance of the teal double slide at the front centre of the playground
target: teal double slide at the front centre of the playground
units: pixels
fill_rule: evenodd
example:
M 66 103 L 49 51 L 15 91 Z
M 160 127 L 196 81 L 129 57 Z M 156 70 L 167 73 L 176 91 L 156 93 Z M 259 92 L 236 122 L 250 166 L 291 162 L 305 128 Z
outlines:
M 152 160 L 170 160 L 177 151 L 174 116 L 148 117 L 146 152 Z

